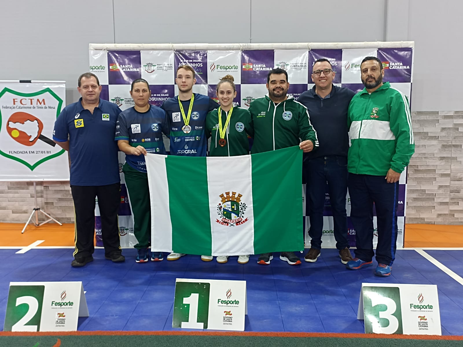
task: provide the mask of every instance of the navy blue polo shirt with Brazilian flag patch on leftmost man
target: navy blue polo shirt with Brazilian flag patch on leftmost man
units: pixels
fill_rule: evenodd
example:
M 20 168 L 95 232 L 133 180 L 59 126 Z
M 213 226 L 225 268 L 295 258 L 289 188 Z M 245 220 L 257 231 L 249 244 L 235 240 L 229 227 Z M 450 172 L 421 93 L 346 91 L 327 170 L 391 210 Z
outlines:
M 70 184 L 102 186 L 120 182 L 118 146 L 114 141 L 120 109 L 101 100 L 93 114 L 82 107 L 82 98 L 66 106 L 56 118 L 53 140 L 69 136 Z

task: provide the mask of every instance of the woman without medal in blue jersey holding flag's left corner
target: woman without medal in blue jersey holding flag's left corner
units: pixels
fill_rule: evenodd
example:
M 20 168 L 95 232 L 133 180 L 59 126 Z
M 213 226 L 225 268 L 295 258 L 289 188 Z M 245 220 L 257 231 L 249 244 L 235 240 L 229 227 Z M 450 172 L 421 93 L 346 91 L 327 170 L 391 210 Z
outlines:
M 122 168 L 125 185 L 130 194 L 133 212 L 133 233 L 138 244 L 135 262 L 147 262 L 151 237 L 151 207 L 148 174 L 144 156 L 147 153 L 166 154 L 163 133 L 169 134 L 166 112 L 148 103 L 150 86 L 144 79 L 132 82 L 130 95 L 135 106 L 119 114 L 115 140 L 124 152 L 125 164 Z M 152 252 L 151 261 L 163 260 L 163 252 Z

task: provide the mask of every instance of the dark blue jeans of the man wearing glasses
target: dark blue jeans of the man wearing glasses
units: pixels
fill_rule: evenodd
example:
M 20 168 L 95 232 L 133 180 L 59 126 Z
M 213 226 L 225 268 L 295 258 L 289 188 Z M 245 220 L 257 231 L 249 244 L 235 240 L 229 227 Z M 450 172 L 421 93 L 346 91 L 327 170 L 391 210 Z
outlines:
M 320 157 L 306 160 L 304 164 L 306 165 L 309 192 L 311 247 L 321 248 L 323 206 L 325 205 L 326 183 L 328 183 L 336 248 L 344 250 L 344 248 L 349 247 L 346 214 L 347 158 L 339 156 Z

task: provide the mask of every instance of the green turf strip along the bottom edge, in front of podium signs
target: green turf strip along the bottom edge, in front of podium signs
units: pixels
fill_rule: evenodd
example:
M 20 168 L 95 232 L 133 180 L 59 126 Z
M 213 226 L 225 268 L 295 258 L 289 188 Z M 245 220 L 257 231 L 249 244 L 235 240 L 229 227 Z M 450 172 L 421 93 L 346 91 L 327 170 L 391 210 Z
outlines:
M 61 344 L 57 343 L 58 339 Z M 188 335 L 89 335 L 2 336 L 1 347 L 462 347 L 463 341 L 340 337 L 188 336 Z

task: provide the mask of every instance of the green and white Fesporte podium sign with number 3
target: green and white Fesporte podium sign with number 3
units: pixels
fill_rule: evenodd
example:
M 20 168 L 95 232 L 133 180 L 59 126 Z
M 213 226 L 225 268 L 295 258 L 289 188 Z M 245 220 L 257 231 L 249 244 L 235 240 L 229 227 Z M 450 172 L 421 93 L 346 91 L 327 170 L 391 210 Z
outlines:
M 441 335 L 437 286 L 362 283 L 357 319 L 367 334 Z

